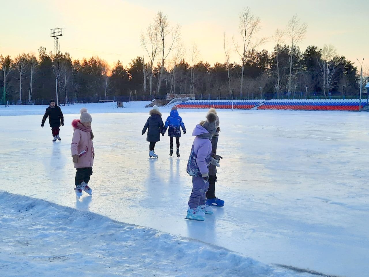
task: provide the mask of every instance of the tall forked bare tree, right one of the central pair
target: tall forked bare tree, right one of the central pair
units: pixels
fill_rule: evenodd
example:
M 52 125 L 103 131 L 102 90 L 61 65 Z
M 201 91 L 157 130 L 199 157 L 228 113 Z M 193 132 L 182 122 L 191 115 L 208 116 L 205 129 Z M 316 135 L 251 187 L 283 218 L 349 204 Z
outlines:
M 161 39 L 161 48 L 162 48 L 162 61 L 161 61 L 161 68 L 159 74 L 159 81 L 158 81 L 158 88 L 156 92 L 159 94 L 162 76 L 164 72 L 165 60 L 168 57 L 169 53 L 172 51 L 173 48 L 176 47 L 178 42 L 180 41 L 180 26 L 179 24 L 176 27 L 172 28 L 168 22 L 168 16 L 163 15 L 161 11 L 156 14 L 155 23 L 159 30 L 159 36 Z M 168 37 L 170 36 L 169 42 Z

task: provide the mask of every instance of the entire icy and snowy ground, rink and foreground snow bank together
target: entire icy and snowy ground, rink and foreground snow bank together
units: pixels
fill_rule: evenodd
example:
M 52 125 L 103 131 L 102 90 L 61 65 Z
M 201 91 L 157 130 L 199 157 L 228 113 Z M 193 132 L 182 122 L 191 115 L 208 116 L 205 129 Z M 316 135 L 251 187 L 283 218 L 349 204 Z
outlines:
M 47 106 L 0 107 L 0 276 L 367 276 L 368 113 L 219 110 L 225 206 L 194 222 L 186 163 L 206 111 L 179 110 L 179 159 L 166 136 L 149 160 L 147 102 L 124 105 L 61 107 L 56 143 L 40 126 Z M 77 201 L 70 122 L 82 106 L 96 157 L 93 196 Z

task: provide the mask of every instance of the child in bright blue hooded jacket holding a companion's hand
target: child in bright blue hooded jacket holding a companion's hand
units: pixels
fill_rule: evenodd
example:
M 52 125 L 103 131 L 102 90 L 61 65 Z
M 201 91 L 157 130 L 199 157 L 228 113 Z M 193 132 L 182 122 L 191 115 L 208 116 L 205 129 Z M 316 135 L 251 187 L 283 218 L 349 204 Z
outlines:
M 169 146 L 170 146 L 170 153 L 169 155 L 173 155 L 173 137 L 176 138 L 177 144 L 177 157 L 179 157 L 179 138 L 181 136 L 181 129 L 183 130 L 183 134 L 186 134 L 186 127 L 184 127 L 184 123 L 182 121 L 182 117 L 179 116 L 177 107 L 173 106 L 172 110 L 170 111 L 170 116 L 165 121 L 165 125 L 163 128 L 162 136 L 164 136 L 166 129 L 168 129 L 168 136 L 169 136 Z

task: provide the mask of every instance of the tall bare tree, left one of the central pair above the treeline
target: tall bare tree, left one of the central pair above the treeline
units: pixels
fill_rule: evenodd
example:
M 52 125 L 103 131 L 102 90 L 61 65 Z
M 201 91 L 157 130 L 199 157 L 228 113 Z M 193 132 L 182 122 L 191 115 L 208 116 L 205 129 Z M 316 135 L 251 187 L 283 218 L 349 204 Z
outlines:
M 152 94 L 152 67 L 154 66 L 155 58 L 158 55 L 159 44 L 160 40 L 158 26 L 150 24 L 149 27 L 146 28 L 145 32 L 141 31 L 141 45 L 149 55 L 148 73 L 150 74 L 150 95 Z M 146 77 L 144 80 L 146 80 Z M 146 92 L 145 88 L 144 90 Z

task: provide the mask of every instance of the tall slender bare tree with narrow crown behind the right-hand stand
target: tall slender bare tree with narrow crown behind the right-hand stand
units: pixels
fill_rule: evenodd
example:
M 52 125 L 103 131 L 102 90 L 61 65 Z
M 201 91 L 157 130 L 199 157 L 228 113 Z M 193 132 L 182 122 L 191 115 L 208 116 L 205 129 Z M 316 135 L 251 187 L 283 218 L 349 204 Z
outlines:
M 288 92 L 291 90 L 291 78 L 292 78 L 292 64 L 293 64 L 293 55 L 296 51 L 296 46 L 299 42 L 301 42 L 306 35 L 307 24 L 300 23 L 300 19 L 297 18 L 297 15 L 294 15 L 287 24 L 287 36 L 290 39 L 290 73 L 288 78 Z

